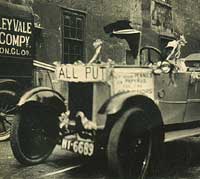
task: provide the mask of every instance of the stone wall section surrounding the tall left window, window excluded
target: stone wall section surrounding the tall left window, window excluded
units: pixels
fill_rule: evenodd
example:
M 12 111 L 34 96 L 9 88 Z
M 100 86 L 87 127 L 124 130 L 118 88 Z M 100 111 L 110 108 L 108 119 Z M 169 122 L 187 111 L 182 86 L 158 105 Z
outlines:
M 123 40 L 110 38 L 104 33 L 103 27 L 117 20 L 129 19 L 133 26 L 141 29 L 141 1 L 139 0 L 63 0 L 60 3 L 35 0 L 33 9 L 41 18 L 42 30 L 41 50 L 38 51 L 42 59 L 52 62 L 62 58 L 61 13 L 63 8 L 84 11 L 86 14 L 85 27 L 85 59 L 88 61 L 94 49 L 92 43 L 100 38 L 104 41 L 103 59 L 111 58 L 117 62 L 125 58 L 127 44 Z M 50 13 L 51 12 L 51 13 Z

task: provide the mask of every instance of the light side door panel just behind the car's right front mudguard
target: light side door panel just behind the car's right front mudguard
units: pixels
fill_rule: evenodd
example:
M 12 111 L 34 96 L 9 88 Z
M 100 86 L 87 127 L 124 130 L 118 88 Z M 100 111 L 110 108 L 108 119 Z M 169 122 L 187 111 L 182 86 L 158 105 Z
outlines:
M 189 73 L 155 75 L 155 97 L 165 124 L 184 122 Z

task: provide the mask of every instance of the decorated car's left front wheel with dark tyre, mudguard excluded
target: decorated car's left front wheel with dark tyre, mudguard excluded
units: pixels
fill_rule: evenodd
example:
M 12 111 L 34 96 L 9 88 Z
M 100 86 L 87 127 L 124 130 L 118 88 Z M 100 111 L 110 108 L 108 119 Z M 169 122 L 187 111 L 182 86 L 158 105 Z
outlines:
M 32 106 L 16 114 L 11 131 L 11 148 L 16 159 L 25 165 L 43 162 L 56 145 L 57 131 L 51 111 Z

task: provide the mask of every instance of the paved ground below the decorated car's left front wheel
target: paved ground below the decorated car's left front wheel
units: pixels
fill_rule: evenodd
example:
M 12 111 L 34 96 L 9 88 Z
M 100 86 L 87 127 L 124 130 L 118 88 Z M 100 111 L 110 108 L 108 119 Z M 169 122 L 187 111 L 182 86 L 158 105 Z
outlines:
M 87 161 L 56 147 L 51 157 L 35 166 L 22 166 L 14 158 L 9 141 L 0 143 L 0 179 L 101 179 L 102 172 L 88 168 Z

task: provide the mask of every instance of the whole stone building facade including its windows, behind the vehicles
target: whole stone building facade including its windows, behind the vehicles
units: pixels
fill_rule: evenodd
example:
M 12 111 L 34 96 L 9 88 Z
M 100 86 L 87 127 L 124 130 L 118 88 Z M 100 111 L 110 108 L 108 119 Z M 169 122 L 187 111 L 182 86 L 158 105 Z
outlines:
M 102 39 L 102 60 L 124 62 L 127 43 L 109 37 L 103 29 L 117 20 L 129 20 L 133 28 L 142 32 L 141 46 L 162 51 L 176 34 L 184 34 L 188 44 L 182 49 L 182 57 L 200 52 L 199 0 L 1 1 L 24 6 L 34 14 L 35 58 L 39 61 L 88 62 L 95 52 L 93 42 Z M 61 92 L 65 91 L 64 86 L 59 87 Z

